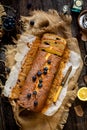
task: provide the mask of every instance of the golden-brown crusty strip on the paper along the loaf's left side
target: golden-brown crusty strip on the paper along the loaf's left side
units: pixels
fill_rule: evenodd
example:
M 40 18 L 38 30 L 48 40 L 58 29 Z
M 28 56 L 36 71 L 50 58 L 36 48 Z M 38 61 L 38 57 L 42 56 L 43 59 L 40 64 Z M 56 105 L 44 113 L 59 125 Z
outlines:
M 11 93 L 11 96 L 10 96 L 11 99 L 17 99 L 19 97 L 19 94 L 21 93 L 21 87 L 23 86 L 26 76 L 28 74 L 28 71 L 31 68 L 33 59 L 35 58 L 35 55 L 38 51 L 39 44 L 40 44 L 40 40 L 36 38 L 36 40 L 33 42 L 31 50 L 29 50 L 29 52 L 27 53 L 25 57 L 24 63 L 21 68 L 21 72 L 19 73 L 19 76 L 18 76 L 18 82 L 16 86 L 14 86 Z

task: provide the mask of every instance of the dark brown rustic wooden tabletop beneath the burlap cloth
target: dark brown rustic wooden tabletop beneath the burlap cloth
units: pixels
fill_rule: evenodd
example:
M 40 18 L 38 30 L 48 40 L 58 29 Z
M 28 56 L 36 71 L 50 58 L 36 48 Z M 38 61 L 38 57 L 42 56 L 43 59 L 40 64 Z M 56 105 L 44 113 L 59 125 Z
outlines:
M 69 8 L 72 7 L 73 0 L 0 0 L 2 4 L 10 5 L 14 7 L 21 15 L 28 15 L 30 10 L 34 9 L 42 9 L 47 11 L 48 9 L 56 9 L 57 11 L 61 12 L 63 5 L 68 4 Z M 87 0 L 84 0 L 83 3 L 83 10 L 87 9 Z M 85 54 L 87 53 L 86 44 L 80 38 L 80 28 L 77 23 L 78 14 L 69 12 L 72 15 L 72 34 L 76 37 L 79 41 L 79 47 L 81 50 L 82 59 L 84 59 Z M 87 84 L 84 82 L 84 75 L 87 75 L 87 67 L 84 65 L 81 75 L 79 77 L 78 83 L 79 87 L 86 86 Z M 0 99 L 1 100 L 1 99 Z M 2 99 L 4 108 L 4 117 L 5 117 L 5 124 L 3 128 L 0 130 L 17 130 L 18 127 L 12 120 L 13 115 L 11 114 L 11 107 L 6 99 Z M 76 115 L 74 107 L 77 105 L 81 105 L 84 115 L 79 117 Z M 2 122 L 4 123 L 4 122 Z M 70 108 L 69 116 L 67 119 L 67 123 L 64 126 L 63 130 L 87 130 L 87 102 L 81 102 L 78 99 L 74 101 L 72 107 Z

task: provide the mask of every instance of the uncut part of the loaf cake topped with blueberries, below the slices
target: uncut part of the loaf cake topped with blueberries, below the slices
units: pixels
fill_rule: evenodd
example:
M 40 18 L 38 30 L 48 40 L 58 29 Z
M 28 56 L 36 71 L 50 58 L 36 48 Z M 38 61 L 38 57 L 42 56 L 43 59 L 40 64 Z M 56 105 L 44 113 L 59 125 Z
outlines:
M 41 111 L 43 108 L 51 88 L 52 80 L 55 76 L 54 74 L 56 73 L 61 60 L 60 57 L 51 54 L 49 56 L 51 64 L 47 66 L 47 61 L 49 60 L 45 59 L 47 54 L 48 53 L 43 51 L 38 52 L 25 81 L 25 85 L 23 86 L 22 93 L 20 94 L 19 104 L 32 111 Z M 47 74 L 44 73 L 46 67 L 48 67 Z M 38 72 L 42 73 L 41 76 L 38 76 Z M 32 77 L 34 76 L 36 76 L 35 82 L 32 81 Z M 42 83 L 40 83 L 40 80 L 42 80 Z M 37 94 L 33 94 L 34 92 Z M 31 94 L 30 98 L 27 97 L 28 94 Z M 34 105 L 35 101 L 38 102 L 37 106 Z

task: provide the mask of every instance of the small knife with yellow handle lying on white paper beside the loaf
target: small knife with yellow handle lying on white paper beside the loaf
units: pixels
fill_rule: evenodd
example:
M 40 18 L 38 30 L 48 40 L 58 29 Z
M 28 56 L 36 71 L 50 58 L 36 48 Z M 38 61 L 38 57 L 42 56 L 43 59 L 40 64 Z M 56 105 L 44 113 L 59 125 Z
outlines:
M 68 68 L 68 70 L 67 70 L 67 72 L 66 72 L 66 74 L 65 74 L 65 77 L 63 78 L 63 80 L 62 80 L 62 82 L 61 82 L 61 85 L 60 85 L 59 88 L 58 88 L 58 91 L 57 91 L 57 93 L 56 93 L 56 95 L 55 95 L 55 97 L 54 97 L 54 100 L 53 100 L 54 103 L 55 103 L 55 102 L 57 101 L 57 99 L 59 98 L 59 95 L 60 95 L 60 93 L 61 93 L 61 90 L 62 90 L 62 88 L 64 87 L 64 85 L 65 85 L 65 83 L 66 83 L 66 81 L 67 81 L 67 79 L 68 79 L 68 77 L 69 77 L 71 71 L 72 71 L 72 66 L 70 66 L 70 67 Z

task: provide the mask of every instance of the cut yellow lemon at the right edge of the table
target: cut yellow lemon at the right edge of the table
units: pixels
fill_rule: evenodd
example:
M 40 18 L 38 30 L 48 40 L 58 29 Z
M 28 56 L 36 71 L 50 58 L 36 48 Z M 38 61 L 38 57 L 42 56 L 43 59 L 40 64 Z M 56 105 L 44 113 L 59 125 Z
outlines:
M 77 96 L 81 101 L 87 101 L 87 87 L 82 87 L 78 90 Z

